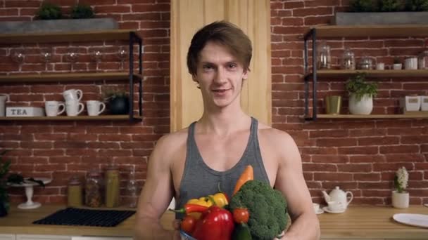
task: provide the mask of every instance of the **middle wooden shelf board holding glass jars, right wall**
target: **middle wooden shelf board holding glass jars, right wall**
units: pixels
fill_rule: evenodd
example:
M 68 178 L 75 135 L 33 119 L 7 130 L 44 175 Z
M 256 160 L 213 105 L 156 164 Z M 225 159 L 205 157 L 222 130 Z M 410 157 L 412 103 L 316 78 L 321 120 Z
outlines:
M 366 73 L 368 78 L 426 78 L 428 70 L 317 70 L 317 78 L 348 78 L 349 76 Z M 313 79 L 313 74 L 306 74 Z

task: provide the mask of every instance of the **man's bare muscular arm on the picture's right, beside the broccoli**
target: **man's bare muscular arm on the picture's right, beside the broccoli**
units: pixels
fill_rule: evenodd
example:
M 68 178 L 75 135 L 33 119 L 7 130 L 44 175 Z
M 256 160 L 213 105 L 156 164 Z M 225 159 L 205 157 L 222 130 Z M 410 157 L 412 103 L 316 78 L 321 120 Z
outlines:
M 287 133 L 281 133 L 282 153 L 275 188 L 287 196 L 291 226 L 282 239 L 320 239 L 320 222 L 313 211 L 312 200 L 305 179 L 301 156 L 296 143 Z

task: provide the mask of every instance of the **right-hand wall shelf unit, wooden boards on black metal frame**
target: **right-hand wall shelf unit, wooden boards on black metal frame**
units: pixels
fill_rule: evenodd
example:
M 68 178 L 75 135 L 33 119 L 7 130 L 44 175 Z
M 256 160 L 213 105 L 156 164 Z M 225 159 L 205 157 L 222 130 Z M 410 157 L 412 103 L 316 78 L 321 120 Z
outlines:
M 386 118 L 428 118 L 421 114 L 317 114 L 317 81 L 320 79 L 347 79 L 349 76 L 365 73 L 367 78 L 417 78 L 428 77 L 426 69 L 372 70 L 372 69 L 317 69 L 317 40 L 344 37 L 408 37 L 428 36 L 428 25 L 322 25 L 312 27 L 304 34 L 304 79 L 305 79 L 305 120 L 320 119 L 386 119 Z M 308 41 L 312 41 L 312 70 L 309 69 Z M 312 114 L 309 112 L 309 85 L 312 82 Z

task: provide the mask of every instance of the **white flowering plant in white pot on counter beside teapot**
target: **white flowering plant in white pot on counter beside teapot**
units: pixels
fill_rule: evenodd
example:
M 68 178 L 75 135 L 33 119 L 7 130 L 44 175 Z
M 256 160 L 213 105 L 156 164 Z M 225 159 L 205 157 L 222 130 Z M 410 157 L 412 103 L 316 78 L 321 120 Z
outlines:
M 392 191 L 392 206 L 394 208 L 409 207 L 409 193 L 405 191 L 408 185 L 409 174 L 405 167 L 398 168 L 394 178 L 396 190 Z

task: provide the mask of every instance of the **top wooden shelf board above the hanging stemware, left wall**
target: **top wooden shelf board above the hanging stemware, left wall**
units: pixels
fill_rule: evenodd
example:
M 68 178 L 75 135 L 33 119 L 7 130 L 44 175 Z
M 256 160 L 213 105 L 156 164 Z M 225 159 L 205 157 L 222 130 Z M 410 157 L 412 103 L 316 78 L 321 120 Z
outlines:
M 134 32 L 142 39 L 142 36 L 135 31 L 135 29 L 113 29 L 85 32 L 0 34 L 0 44 L 129 40 L 130 32 Z

